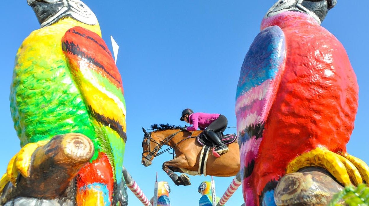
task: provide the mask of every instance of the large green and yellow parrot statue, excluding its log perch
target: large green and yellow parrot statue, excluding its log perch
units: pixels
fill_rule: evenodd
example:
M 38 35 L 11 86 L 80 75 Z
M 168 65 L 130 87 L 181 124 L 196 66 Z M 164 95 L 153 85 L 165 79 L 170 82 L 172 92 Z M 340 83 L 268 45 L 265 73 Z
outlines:
M 27 2 L 41 28 L 15 58 L 10 107 L 23 149 L 8 167 L 17 165 L 13 173 L 27 178 L 38 146 L 55 135 L 81 133 L 92 141 L 94 155 L 76 177 L 75 205 L 126 205 L 124 92 L 97 18 L 80 0 Z M 1 182 L 15 185 L 16 177 L 4 175 Z

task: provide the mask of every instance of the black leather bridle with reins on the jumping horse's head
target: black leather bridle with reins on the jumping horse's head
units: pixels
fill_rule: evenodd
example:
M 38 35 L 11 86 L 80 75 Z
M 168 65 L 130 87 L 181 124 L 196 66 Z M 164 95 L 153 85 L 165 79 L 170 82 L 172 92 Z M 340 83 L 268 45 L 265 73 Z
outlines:
M 145 133 L 144 136 L 144 142 L 142 142 L 142 147 L 144 147 L 144 144 L 147 145 L 148 150 L 144 150 L 142 152 L 142 157 L 144 157 L 146 160 L 152 161 L 154 159 L 154 157 L 157 157 L 163 153 L 165 153 L 166 151 L 169 151 L 171 148 L 167 148 L 161 152 L 158 153 L 159 150 L 161 150 L 161 148 L 166 145 L 171 139 L 173 139 L 174 136 L 176 136 L 178 133 L 183 132 L 183 130 L 179 130 L 178 132 L 173 133 L 172 135 L 169 135 L 168 137 L 165 137 L 161 142 L 156 142 L 154 139 L 152 139 L 151 137 L 151 133 L 152 132 L 146 132 L 146 130 L 144 128 L 142 128 L 142 130 Z M 180 140 L 179 142 L 177 142 L 173 148 L 175 146 L 177 146 L 177 144 L 179 144 L 180 142 L 191 138 L 192 136 L 188 136 L 187 138 Z M 157 144 L 157 146 L 155 146 L 154 150 L 151 151 L 151 142 Z M 146 156 L 144 155 L 144 153 L 147 153 Z

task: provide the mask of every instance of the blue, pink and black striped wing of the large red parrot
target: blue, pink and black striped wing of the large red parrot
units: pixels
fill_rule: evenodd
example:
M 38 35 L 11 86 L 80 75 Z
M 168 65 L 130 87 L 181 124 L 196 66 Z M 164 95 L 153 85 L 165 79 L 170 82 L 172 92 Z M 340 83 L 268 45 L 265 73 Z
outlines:
M 271 26 L 256 36 L 241 67 L 235 112 L 244 181 L 242 185 L 249 185 L 243 189 L 246 205 L 255 205 L 259 201 L 251 175 L 264 124 L 283 75 L 285 59 L 284 33 L 280 27 Z

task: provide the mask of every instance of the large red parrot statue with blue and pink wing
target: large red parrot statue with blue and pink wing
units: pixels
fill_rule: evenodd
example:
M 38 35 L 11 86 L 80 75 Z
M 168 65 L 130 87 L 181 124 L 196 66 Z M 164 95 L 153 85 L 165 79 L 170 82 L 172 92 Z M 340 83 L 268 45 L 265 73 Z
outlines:
M 279 0 L 262 20 L 237 86 L 246 205 L 275 205 L 284 174 L 322 167 L 343 185 L 369 183 L 346 152 L 358 84 L 342 44 L 320 26 L 336 0 Z

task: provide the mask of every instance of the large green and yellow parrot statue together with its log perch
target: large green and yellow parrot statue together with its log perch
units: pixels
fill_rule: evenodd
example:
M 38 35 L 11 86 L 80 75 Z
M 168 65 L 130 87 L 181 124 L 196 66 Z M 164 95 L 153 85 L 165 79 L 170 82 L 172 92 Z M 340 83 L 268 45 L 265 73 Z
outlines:
M 15 57 L 11 115 L 22 149 L 0 205 L 127 205 L 120 73 L 80 0 L 27 0 L 41 28 Z

